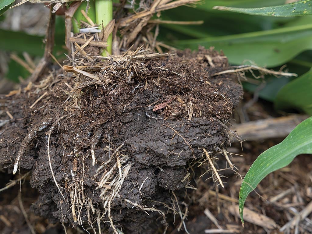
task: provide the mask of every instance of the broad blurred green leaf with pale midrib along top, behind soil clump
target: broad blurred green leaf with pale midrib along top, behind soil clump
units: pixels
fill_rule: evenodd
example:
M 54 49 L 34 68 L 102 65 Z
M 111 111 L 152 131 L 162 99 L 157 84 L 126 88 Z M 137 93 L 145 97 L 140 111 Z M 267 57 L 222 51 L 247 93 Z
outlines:
M 206 37 L 174 41 L 175 46 L 197 49 L 214 46 L 227 55 L 232 64 L 254 61 L 258 66 L 280 66 L 300 52 L 312 49 L 312 24 L 241 33 L 221 37 Z

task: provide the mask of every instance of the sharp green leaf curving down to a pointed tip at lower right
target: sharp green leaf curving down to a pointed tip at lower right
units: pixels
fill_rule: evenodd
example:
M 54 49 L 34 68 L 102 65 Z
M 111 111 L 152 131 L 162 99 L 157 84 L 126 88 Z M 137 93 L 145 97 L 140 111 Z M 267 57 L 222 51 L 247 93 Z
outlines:
M 239 191 L 238 205 L 242 224 L 248 194 L 269 173 L 287 166 L 299 154 L 312 154 L 312 117 L 298 124 L 285 140 L 260 154 L 251 165 Z

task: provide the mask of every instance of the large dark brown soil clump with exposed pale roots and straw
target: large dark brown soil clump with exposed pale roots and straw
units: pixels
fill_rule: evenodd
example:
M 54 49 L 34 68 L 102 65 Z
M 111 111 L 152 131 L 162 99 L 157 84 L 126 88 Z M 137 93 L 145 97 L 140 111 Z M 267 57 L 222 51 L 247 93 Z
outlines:
M 1 97 L 0 167 L 32 171 L 37 214 L 95 233 L 151 233 L 166 229 L 167 212 L 187 215 L 192 166 L 203 148 L 229 144 L 223 121 L 242 89 L 234 75 L 213 76 L 228 63 L 212 49 L 144 53 L 66 66 Z

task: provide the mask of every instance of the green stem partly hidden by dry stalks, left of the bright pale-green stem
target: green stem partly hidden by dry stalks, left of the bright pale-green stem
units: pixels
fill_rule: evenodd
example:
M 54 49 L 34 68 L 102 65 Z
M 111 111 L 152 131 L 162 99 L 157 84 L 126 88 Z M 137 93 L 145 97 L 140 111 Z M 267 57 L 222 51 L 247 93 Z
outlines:
M 79 33 L 79 30 L 80 30 L 80 20 L 86 21 L 85 17 L 80 12 L 81 10 L 84 10 L 85 12 L 88 12 L 87 15 L 90 17 L 90 19 L 93 22 L 95 22 L 96 18 L 95 18 L 95 3 L 94 3 L 94 1 L 91 0 L 89 2 L 89 9 L 88 9 L 88 11 L 86 11 L 86 8 L 87 8 L 87 2 L 82 2 L 80 4 L 80 6 L 78 7 L 78 9 L 76 10 L 75 14 L 74 14 L 74 18 L 76 19 L 76 21 L 74 19 L 72 20 L 74 33 Z

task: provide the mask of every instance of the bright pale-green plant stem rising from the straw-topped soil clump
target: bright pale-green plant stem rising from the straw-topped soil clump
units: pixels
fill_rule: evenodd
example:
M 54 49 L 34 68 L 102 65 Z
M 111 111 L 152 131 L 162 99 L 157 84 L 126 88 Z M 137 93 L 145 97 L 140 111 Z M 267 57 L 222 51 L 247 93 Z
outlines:
M 112 0 L 96 0 L 95 1 L 95 11 L 96 11 L 96 23 L 100 25 L 103 24 L 105 27 L 113 19 L 113 1 Z M 106 50 L 102 52 L 103 56 L 107 54 L 112 54 L 112 34 L 107 39 L 108 46 Z

